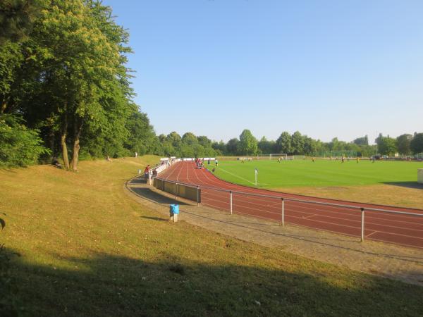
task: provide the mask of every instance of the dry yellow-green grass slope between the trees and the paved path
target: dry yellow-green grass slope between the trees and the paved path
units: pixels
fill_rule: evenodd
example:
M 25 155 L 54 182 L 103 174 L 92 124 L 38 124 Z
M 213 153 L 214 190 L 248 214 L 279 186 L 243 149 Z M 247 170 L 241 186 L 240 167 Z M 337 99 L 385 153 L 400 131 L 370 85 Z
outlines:
M 30 315 L 423 315 L 423 287 L 168 223 L 123 192 L 156 160 L 0 170 L 0 240 Z

